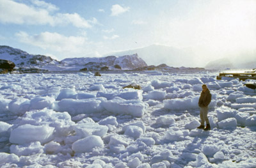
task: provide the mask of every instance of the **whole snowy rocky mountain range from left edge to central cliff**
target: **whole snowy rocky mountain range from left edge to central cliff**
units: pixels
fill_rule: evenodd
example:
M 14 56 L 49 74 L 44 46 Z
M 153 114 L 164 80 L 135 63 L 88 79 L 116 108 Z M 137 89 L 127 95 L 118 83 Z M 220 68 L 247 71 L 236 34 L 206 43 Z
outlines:
M 4 45 L 0 45 L 0 59 L 12 61 L 15 63 L 15 67 L 22 72 L 81 70 L 82 68 L 88 70 L 132 70 L 147 66 L 138 54 L 120 57 L 76 57 L 57 61 L 48 56 L 28 54 L 23 50 Z

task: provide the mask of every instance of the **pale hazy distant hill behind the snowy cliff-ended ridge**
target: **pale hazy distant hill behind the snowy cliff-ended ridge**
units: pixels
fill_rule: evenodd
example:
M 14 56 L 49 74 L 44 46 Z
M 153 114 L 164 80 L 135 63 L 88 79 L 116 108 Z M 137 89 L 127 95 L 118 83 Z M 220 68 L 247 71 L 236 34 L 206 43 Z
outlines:
M 193 51 L 189 49 L 177 49 L 165 45 L 150 45 L 139 49 L 125 50 L 121 52 L 112 52 L 108 55 L 124 56 L 137 53 L 147 65 L 161 65 L 165 63 L 169 66 L 186 66 L 196 65 Z

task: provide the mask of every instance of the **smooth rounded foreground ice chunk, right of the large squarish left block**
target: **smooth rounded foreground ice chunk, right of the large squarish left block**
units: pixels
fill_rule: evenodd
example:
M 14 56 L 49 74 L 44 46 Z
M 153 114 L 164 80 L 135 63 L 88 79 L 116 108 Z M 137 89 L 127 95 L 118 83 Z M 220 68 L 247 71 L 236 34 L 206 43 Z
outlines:
M 84 145 L 86 144 L 86 145 Z M 99 147 L 103 148 L 104 143 L 102 139 L 97 135 L 90 135 L 84 139 L 79 139 L 72 144 L 72 150 L 75 153 L 85 153 L 92 151 L 93 148 Z

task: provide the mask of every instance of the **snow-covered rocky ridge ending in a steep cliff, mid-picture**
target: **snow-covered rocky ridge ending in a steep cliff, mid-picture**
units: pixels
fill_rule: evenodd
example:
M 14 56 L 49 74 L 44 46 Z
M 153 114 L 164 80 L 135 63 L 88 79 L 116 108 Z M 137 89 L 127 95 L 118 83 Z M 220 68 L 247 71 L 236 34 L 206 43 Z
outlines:
M 147 66 L 147 63 L 141 59 L 138 54 L 131 54 L 125 56 L 107 56 L 107 57 L 75 57 L 66 58 L 61 63 L 67 66 L 83 66 L 88 70 L 99 70 L 99 68 L 108 67 L 109 69 L 115 69 L 116 66 L 120 66 L 122 70 L 132 70 L 134 68 L 140 68 Z

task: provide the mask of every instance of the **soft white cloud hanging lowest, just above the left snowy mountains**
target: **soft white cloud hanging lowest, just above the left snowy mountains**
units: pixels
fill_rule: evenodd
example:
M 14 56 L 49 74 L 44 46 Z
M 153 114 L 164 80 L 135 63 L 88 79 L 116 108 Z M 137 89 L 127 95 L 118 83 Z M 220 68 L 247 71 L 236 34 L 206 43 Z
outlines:
M 59 33 L 50 33 L 47 31 L 33 36 L 24 31 L 20 31 L 16 33 L 15 36 L 17 36 L 22 43 L 28 43 L 29 45 L 34 45 L 44 50 L 57 52 L 76 53 L 86 44 L 86 38 L 82 36 L 63 36 Z

